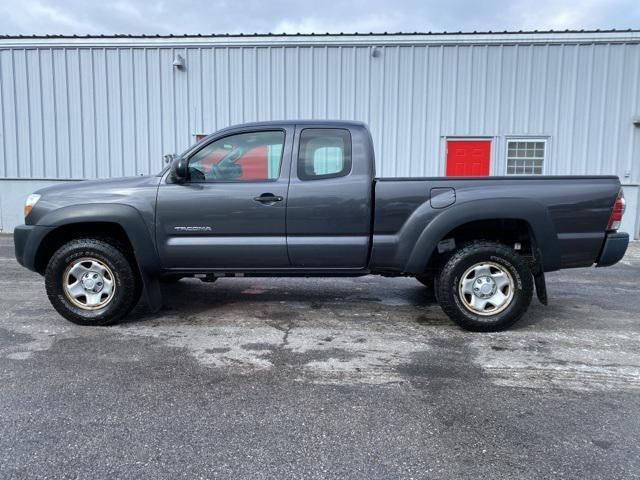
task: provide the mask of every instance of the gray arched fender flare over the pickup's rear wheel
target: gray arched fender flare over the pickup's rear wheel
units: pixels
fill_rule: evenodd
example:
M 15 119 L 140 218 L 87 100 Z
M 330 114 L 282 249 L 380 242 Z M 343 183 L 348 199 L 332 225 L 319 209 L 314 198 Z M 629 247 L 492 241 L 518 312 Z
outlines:
M 547 208 L 533 200 L 500 198 L 474 200 L 444 209 L 418 237 L 405 266 L 405 273 L 424 272 L 438 242 L 453 229 L 469 222 L 495 219 L 527 222 L 534 237 L 532 240 L 542 256 L 543 270 L 551 271 L 560 268 L 558 236 Z

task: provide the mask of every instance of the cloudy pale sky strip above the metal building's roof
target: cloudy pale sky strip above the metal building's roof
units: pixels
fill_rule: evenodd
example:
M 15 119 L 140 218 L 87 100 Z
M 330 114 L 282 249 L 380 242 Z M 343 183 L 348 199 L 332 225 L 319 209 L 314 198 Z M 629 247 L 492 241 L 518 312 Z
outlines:
M 0 34 L 640 28 L 640 0 L 0 0 Z

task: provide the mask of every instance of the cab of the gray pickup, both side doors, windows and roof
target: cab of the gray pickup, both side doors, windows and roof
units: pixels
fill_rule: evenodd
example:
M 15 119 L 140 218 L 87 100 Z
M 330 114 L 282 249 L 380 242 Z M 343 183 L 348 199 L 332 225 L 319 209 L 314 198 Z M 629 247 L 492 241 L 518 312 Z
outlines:
M 206 138 L 187 157 L 158 188 L 164 269 L 367 269 L 374 162 L 364 124 L 242 125 Z

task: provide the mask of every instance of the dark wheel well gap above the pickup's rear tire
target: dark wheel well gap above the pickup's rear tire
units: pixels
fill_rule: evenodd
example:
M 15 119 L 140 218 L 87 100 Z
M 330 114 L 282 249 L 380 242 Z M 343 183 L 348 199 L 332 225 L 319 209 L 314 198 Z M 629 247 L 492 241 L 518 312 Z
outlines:
M 455 242 L 454 248 L 458 248 L 463 243 L 472 240 L 490 240 L 510 247 L 520 244 L 518 250 L 520 255 L 527 258 L 529 263 L 535 262 L 535 237 L 531 226 L 525 220 L 496 218 L 468 222 L 449 231 L 442 237 L 441 242 L 450 239 Z M 443 249 L 436 248 L 431 258 L 429 258 L 427 272 L 437 270 L 442 259 L 451 250 L 445 244 L 443 244 L 443 247 Z

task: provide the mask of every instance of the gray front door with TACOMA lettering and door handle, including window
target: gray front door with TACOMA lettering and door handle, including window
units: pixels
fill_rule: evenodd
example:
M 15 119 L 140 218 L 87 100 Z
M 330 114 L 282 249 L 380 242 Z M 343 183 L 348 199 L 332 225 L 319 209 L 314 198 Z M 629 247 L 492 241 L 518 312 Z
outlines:
M 290 267 L 285 211 L 294 129 L 221 133 L 189 157 L 189 179 L 158 189 L 164 268 Z

